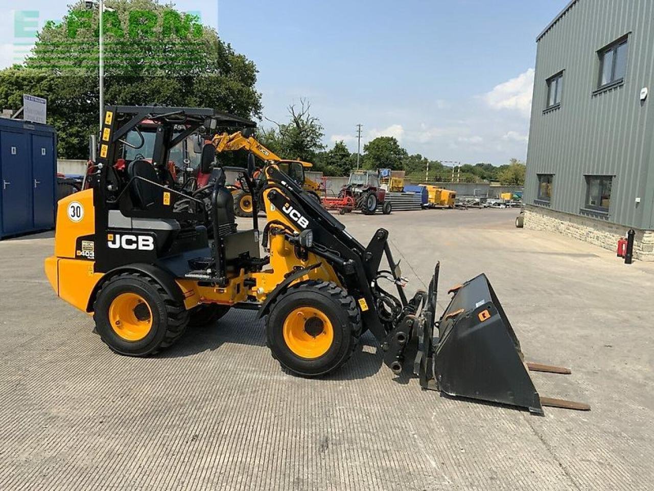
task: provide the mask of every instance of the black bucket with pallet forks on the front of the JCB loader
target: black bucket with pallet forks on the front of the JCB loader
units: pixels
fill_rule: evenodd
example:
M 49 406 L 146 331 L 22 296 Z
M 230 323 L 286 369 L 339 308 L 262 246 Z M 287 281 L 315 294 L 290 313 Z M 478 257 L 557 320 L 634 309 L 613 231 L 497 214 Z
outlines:
M 449 306 L 434 323 L 438 269 L 417 323 L 419 351 L 414 371 L 424 389 L 455 397 L 517 406 L 543 414 L 543 406 L 589 410 L 583 403 L 540 397 L 529 371 L 568 369 L 525 363 L 520 343 L 486 276 L 455 287 Z M 434 337 L 434 326 L 438 337 Z

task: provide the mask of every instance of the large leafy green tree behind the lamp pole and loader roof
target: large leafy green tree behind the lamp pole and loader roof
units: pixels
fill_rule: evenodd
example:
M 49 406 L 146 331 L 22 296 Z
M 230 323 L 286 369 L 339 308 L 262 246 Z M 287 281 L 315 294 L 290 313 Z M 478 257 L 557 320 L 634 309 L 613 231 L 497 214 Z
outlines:
M 211 27 L 157 0 L 107 0 L 105 101 L 121 105 L 215 107 L 260 117 L 254 63 Z M 98 18 L 84 1 L 48 22 L 24 65 L 0 71 L 0 107 L 17 109 L 22 94 L 48 100 L 59 155 L 86 158 L 97 132 Z

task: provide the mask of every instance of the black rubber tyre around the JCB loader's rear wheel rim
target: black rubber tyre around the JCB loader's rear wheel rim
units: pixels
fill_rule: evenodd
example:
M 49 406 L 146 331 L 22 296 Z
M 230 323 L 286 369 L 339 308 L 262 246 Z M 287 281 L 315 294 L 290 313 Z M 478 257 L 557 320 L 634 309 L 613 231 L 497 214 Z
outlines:
M 142 339 L 126 340 L 111 326 L 109 308 L 122 293 L 139 295 L 150 309 L 152 325 Z M 184 304 L 173 299 L 158 282 L 136 272 L 119 274 L 105 282 L 94 302 L 95 330 L 112 351 L 127 356 L 145 357 L 168 348 L 184 333 L 188 317 Z

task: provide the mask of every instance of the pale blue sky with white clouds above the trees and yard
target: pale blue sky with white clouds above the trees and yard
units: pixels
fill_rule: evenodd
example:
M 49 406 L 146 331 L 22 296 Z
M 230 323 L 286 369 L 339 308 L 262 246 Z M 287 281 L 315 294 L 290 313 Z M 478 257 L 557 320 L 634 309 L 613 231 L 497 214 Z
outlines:
M 40 25 L 65 1 L 28 0 Z M 177 0 L 258 68 L 264 117 L 300 99 L 324 143 L 394 136 L 432 160 L 525 160 L 536 36 L 568 0 Z M 0 67 L 24 56 L 17 3 L 0 0 Z M 264 119 L 262 125 L 270 123 Z

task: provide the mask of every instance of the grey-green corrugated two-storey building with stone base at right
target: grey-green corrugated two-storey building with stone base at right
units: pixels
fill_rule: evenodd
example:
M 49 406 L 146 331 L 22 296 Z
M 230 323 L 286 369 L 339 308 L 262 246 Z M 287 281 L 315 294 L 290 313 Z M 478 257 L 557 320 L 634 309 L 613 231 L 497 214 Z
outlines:
M 654 1 L 573 0 L 536 39 L 525 227 L 654 261 Z

